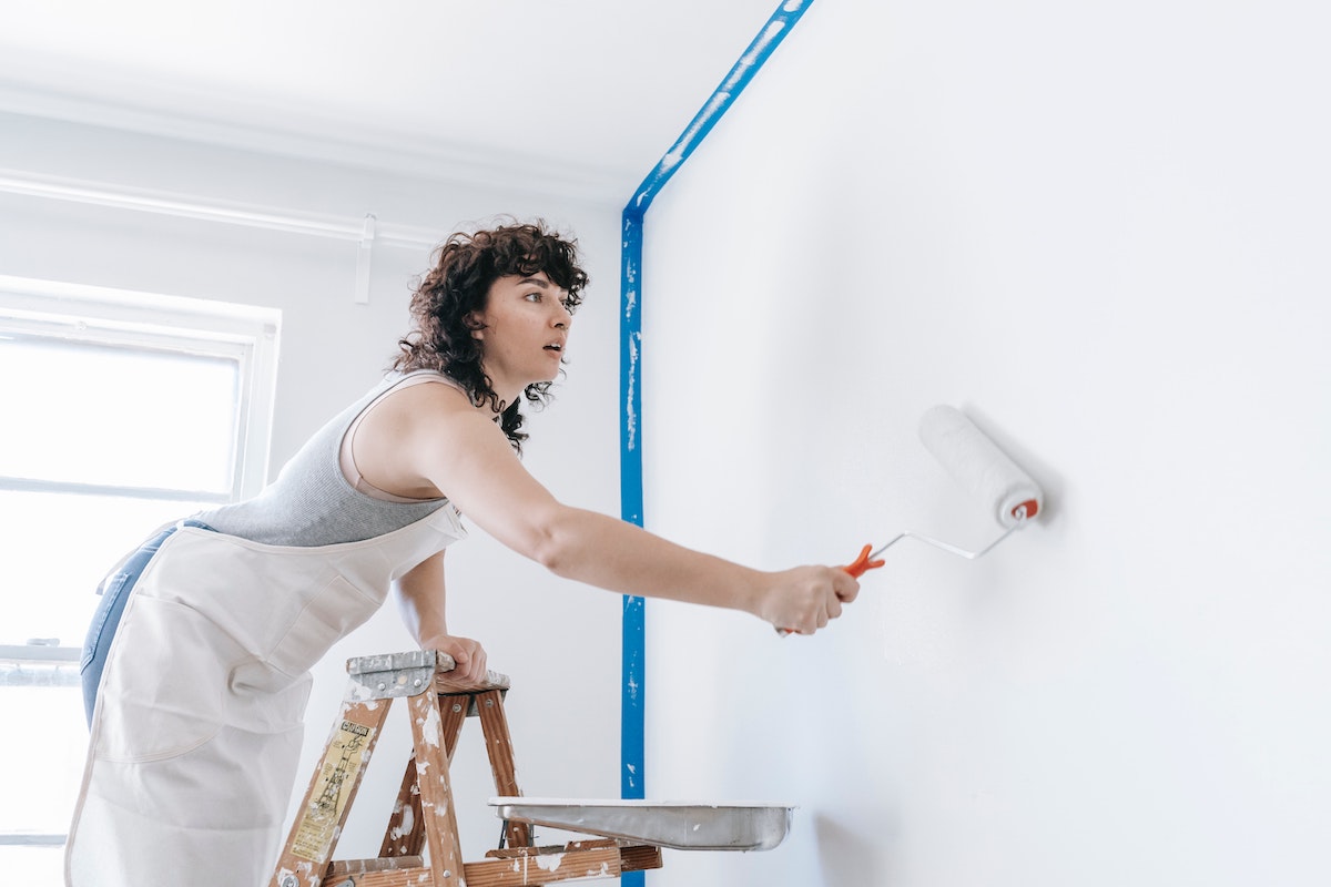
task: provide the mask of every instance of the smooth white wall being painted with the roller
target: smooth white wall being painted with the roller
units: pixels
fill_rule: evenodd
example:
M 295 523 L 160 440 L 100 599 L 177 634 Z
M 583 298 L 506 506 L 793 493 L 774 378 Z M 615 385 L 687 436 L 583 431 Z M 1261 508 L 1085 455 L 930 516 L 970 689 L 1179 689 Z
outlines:
M 647 794 L 799 806 L 656 884 L 1310 884 L 1331 831 L 1315 4 L 815 4 L 648 213 L 650 528 L 755 565 L 996 525 L 829 630 L 648 606 Z

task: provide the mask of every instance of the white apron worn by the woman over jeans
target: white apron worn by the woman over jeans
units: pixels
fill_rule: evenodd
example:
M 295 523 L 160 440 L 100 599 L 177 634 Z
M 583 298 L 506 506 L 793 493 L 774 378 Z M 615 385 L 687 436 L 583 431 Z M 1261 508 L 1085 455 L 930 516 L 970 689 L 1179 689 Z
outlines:
M 317 548 L 182 527 L 125 606 L 65 848 L 71 887 L 261 887 L 299 762 L 310 666 L 391 580 L 466 535 L 451 505 Z

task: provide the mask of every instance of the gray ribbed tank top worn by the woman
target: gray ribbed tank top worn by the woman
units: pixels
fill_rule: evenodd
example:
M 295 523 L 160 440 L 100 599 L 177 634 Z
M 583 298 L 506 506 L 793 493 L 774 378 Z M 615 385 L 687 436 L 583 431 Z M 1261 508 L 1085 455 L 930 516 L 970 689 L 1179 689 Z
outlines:
M 338 455 L 342 436 L 377 398 L 406 379 L 433 375 L 457 387 L 433 370 L 391 372 L 365 396 L 314 432 L 291 456 L 277 480 L 253 499 L 193 515 L 217 532 L 265 545 L 311 548 L 358 543 L 401 529 L 407 524 L 451 508 L 447 499 L 385 501 L 355 489 L 342 473 Z

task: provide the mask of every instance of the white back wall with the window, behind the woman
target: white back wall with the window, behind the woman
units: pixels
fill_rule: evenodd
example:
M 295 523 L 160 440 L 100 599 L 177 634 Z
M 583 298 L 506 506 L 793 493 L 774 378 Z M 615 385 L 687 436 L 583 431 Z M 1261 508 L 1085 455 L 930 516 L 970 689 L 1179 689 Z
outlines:
M 441 181 L 371 174 L 278 157 L 0 116 L 0 169 L 165 190 L 293 213 L 438 231 L 499 213 L 540 215 L 578 235 L 592 287 L 578 314 L 567 380 L 528 420 L 526 464 L 558 496 L 618 512 L 618 207 Z M 355 305 L 355 243 L 0 194 L 0 274 L 281 309 L 272 473 L 306 435 L 379 378 L 407 328 L 407 287 L 427 247 L 379 246 L 369 305 Z M 7 382 L 8 384 L 9 382 Z M 126 418 L 132 422 L 132 416 Z M 150 531 L 128 529 L 133 537 Z M 550 577 L 473 527 L 449 553 L 450 626 L 480 638 L 512 677 L 507 706 L 519 785 L 534 795 L 618 794 L 618 596 Z M 80 528 L 79 532 L 112 532 Z M 93 578 L 89 582 L 89 592 Z M 89 614 L 95 598 L 89 593 Z M 338 645 L 315 674 L 298 791 L 337 713 L 350 656 L 411 649 L 391 606 Z M 570 694 L 580 702 L 568 706 Z M 405 714 L 385 735 L 338 858 L 378 852 L 406 763 Z M 466 855 L 494 846 L 499 822 L 479 726 L 469 722 L 454 770 Z

